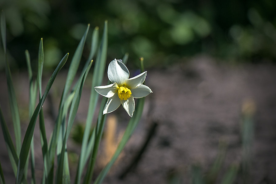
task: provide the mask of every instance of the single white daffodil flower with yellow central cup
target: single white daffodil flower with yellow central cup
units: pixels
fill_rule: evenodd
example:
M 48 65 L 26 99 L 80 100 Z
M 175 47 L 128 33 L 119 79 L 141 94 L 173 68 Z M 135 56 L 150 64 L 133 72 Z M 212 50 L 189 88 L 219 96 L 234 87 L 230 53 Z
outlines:
M 132 117 L 135 108 L 134 98 L 142 98 L 152 93 L 148 86 L 143 85 L 146 75 L 147 71 L 128 79 L 129 71 L 125 64 L 117 59 L 111 61 L 107 76 L 113 84 L 94 87 L 99 94 L 108 98 L 103 114 L 113 112 L 122 104 Z

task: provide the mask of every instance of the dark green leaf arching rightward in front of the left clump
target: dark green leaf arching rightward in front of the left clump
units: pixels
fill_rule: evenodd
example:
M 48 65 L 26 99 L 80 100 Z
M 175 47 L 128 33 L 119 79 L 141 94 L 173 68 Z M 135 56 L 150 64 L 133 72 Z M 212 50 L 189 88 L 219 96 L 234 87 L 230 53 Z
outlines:
M 22 148 L 20 151 L 20 155 L 19 155 L 19 160 L 18 160 L 18 169 L 17 169 L 17 177 L 16 177 L 16 183 L 20 184 L 23 178 L 23 171 L 24 171 L 24 167 L 27 161 L 27 157 L 28 157 L 28 153 L 29 153 L 29 149 L 30 149 L 30 145 L 31 145 L 31 140 L 33 137 L 33 132 L 34 132 L 34 127 L 36 124 L 36 118 L 38 117 L 38 114 L 40 112 L 40 109 L 46 99 L 46 96 L 50 90 L 50 88 L 52 87 L 52 84 L 54 82 L 54 80 L 56 79 L 56 76 L 59 72 L 59 70 L 63 67 L 63 65 L 65 64 L 66 60 L 68 58 L 68 53 L 63 57 L 63 59 L 60 61 L 59 65 L 56 67 L 56 70 L 54 71 L 54 73 L 52 74 L 52 76 L 49 79 L 49 82 L 46 86 L 45 92 L 42 96 L 42 98 L 40 99 L 40 102 L 38 103 L 38 105 L 36 106 L 36 109 L 33 113 L 33 116 L 30 120 L 30 123 L 28 125 L 28 128 L 26 130 L 25 136 L 24 136 L 24 140 L 22 143 Z

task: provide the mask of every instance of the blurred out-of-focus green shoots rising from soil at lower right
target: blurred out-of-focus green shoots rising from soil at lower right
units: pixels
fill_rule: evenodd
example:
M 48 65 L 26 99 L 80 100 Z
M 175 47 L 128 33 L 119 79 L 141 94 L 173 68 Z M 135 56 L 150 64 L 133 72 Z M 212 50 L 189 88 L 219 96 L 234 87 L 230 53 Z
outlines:
M 227 145 L 220 141 L 217 156 L 212 166 L 203 172 L 199 163 L 192 165 L 191 178 L 193 184 L 232 184 L 232 183 L 252 183 L 251 163 L 252 163 L 252 146 L 254 141 L 254 115 L 255 102 L 247 99 L 243 103 L 240 122 L 240 142 L 241 155 L 240 163 L 232 163 L 228 169 L 223 172 L 223 163 L 227 154 Z M 174 173 L 169 178 L 169 183 L 181 183 L 181 173 Z

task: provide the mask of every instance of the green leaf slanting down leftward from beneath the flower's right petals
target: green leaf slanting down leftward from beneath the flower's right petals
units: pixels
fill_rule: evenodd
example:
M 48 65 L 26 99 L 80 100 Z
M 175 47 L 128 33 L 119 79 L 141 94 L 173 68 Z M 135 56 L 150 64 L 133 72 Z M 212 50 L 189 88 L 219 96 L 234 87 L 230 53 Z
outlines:
M 108 173 L 109 169 L 111 168 L 111 166 L 114 164 L 114 162 L 120 155 L 121 151 L 125 147 L 125 144 L 128 142 L 130 136 L 132 135 L 136 126 L 138 125 L 138 122 L 140 121 L 140 118 L 141 118 L 142 112 L 143 112 L 143 108 L 144 108 L 144 98 L 140 98 L 140 99 L 138 99 L 136 109 L 134 111 L 132 118 L 130 119 L 130 121 L 128 123 L 125 133 L 121 139 L 121 142 L 119 143 L 119 145 L 118 145 L 114 155 L 112 156 L 111 160 L 109 161 L 109 163 L 103 168 L 101 173 L 96 178 L 94 184 L 99 184 L 102 182 L 102 180 Z

